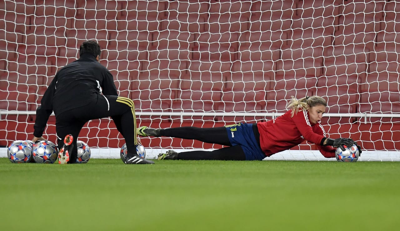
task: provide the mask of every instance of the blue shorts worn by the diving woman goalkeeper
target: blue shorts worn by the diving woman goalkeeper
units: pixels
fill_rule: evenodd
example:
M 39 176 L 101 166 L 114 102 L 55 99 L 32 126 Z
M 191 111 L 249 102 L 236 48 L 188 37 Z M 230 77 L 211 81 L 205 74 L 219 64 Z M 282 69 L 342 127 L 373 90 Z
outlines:
M 246 160 L 262 160 L 266 157 L 256 140 L 252 123 L 238 123 L 225 127 L 230 143 L 232 146 L 242 147 Z

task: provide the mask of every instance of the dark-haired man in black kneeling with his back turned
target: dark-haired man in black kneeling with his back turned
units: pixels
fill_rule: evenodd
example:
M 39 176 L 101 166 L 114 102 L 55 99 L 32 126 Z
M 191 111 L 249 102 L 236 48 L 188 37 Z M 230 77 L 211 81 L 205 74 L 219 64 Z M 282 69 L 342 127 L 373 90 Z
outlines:
M 152 164 L 136 153 L 140 143 L 136 134 L 136 116 L 133 101 L 117 94 L 112 74 L 99 63 L 100 46 L 95 41 L 83 42 L 80 58 L 56 73 L 36 110 L 34 138 L 43 135 L 50 114 L 56 116 L 58 163 L 75 163 L 76 141 L 86 122 L 109 117 L 124 136 L 128 153 L 127 164 Z

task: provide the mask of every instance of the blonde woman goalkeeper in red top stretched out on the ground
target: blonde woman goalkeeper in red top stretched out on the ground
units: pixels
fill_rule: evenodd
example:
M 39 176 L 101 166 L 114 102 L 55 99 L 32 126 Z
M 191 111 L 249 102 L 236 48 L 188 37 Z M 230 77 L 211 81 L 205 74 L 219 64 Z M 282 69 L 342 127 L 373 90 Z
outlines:
M 205 143 L 216 143 L 228 147 L 213 151 L 185 151 L 177 153 L 169 150 L 160 153 L 158 159 L 183 160 L 262 160 L 280 151 L 290 149 L 303 141 L 317 145 L 326 158 L 335 157 L 336 147 L 351 147 L 353 139 L 326 137 L 321 119 L 327 104 L 319 96 L 307 96 L 297 100 L 292 97 L 288 111 L 282 116 L 266 122 L 237 123 L 225 127 L 199 128 L 176 127 L 155 129 L 139 127 L 140 136 L 168 136 L 182 139 L 195 139 Z

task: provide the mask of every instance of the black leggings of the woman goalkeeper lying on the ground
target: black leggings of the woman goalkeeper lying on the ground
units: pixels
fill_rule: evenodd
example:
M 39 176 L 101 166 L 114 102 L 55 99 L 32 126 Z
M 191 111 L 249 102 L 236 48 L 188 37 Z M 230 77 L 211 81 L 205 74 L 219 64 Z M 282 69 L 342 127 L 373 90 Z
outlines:
M 225 127 L 176 127 L 161 129 L 162 136 L 182 139 L 196 139 L 204 143 L 216 143 L 224 146 L 214 151 L 184 151 L 178 154 L 178 159 L 185 160 L 246 160 L 246 155 L 240 145 L 229 141 Z

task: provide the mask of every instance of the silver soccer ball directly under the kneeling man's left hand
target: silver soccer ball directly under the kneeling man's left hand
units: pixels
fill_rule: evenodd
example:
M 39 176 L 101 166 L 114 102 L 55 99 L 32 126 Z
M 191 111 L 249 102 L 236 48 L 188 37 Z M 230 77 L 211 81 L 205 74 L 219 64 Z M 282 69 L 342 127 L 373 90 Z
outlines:
M 54 163 L 58 157 L 58 148 L 52 141 L 41 140 L 33 146 L 32 155 L 36 163 Z

